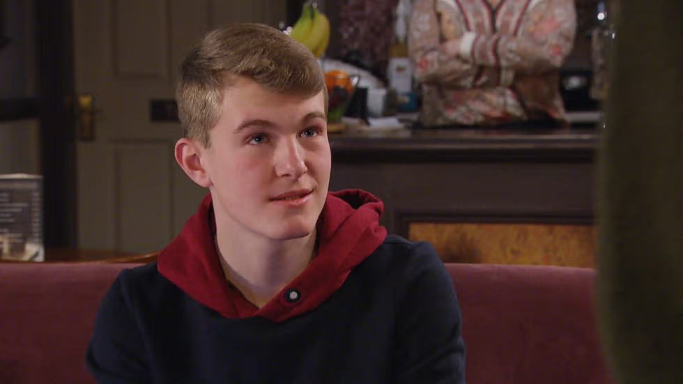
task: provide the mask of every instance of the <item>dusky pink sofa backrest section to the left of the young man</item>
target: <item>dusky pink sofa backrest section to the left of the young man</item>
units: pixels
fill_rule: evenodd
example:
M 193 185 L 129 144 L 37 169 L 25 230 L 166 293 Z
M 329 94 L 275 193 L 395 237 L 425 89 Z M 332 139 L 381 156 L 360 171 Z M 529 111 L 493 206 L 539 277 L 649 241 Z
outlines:
M 100 300 L 139 264 L 0 263 L 0 383 L 94 383 L 85 367 Z

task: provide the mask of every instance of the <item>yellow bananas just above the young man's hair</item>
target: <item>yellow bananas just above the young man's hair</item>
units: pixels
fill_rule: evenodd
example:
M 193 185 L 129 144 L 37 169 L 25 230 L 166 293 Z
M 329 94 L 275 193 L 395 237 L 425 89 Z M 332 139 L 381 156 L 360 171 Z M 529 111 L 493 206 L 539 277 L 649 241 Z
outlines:
M 289 36 L 319 57 L 330 43 L 330 20 L 318 10 L 316 3 L 308 1 L 301 10 L 301 15 L 289 31 Z

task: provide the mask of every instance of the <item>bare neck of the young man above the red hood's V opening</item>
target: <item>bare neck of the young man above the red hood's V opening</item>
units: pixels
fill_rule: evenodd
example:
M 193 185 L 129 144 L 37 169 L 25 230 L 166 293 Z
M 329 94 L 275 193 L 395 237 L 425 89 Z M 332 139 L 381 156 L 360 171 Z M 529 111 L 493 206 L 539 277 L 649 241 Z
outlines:
M 263 307 L 306 269 L 316 253 L 316 232 L 293 240 L 233 241 L 217 231 L 216 249 L 225 277 L 256 307 Z

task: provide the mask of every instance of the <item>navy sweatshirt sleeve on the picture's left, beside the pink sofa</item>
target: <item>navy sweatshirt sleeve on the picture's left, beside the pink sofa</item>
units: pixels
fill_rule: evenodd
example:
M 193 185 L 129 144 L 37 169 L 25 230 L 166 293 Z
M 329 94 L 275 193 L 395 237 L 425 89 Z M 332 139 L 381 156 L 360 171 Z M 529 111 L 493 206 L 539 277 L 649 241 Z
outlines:
M 152 383 L 146 348 L 132 313 L 126 271 L 100 303 L 86 364 L 98 384 Z

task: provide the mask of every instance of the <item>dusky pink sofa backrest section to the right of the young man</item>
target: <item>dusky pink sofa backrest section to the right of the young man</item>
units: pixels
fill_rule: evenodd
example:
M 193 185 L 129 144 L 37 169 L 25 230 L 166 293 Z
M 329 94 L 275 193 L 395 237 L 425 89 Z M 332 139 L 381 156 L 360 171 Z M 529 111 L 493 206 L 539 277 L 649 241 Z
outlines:
M 611 383 L 589 268 L 447 264 L 468 384 Z

